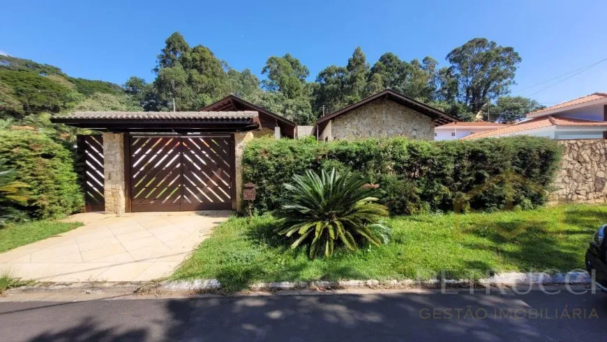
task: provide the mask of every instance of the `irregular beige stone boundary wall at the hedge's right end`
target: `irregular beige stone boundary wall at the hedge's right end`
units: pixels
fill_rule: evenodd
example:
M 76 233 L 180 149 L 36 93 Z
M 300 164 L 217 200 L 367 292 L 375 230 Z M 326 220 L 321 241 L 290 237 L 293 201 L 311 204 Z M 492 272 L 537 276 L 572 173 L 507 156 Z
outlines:
M 607 140 L 562 140 L 564 154 L 550 201 L 607 202 Z

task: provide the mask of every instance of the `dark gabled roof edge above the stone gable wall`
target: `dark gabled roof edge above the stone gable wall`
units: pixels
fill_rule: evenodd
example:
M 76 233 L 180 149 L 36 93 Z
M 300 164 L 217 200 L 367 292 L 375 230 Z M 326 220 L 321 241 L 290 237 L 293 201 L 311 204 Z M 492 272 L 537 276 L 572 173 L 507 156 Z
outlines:
M 403 104 L 406 107 L 419 111 L 421 114 L 430 116 L 430 118 L 433 118 L 433 120 L 435 120 L 435 126 L 459 121 L 458 118 L 455 118 L 454 116 L 450 116 L 449 114 L 444 113 L 443 111 L 430 107 L 427 104 L 421 103 L 417 100 L 413 100 L 412 98 L 409 98 L 409 97 L 407 97 L 401 93 L 398 93 L 396 91 L 393 91 L 391 89 L 386 89 L 384 91 L 380 91 L 380 93 L 371 95 L 368 98 L 364 98 L 363 100 L 360 100 L 359 102 L 350 104 L 347 107 L 343 107 L 342 109 L 339 109 L 338 111 L 334 111 L 333 113 L 328 114 L 328 115 L 323 116 L 322 118 L 318 119 L 316 121 L 316 123 L 314 124 L 313 134 L 315 134 L 317 129 L 320 129 L 322 131 L 324 129 L 324 127 L 327 125 L 327 123 L 329 123 L 329 121 L 331 121 L 332 119 L 334 119 L 338 116 L 347 114 L 350 111 L 353 111 L 354 109 L 357 109 L 359 107 L 364 106 L 365 104 L 368 104 L 369 102 L 372 102 L 375 100 L 380 100 L 380 99 L 392 100 L 394 102 Z

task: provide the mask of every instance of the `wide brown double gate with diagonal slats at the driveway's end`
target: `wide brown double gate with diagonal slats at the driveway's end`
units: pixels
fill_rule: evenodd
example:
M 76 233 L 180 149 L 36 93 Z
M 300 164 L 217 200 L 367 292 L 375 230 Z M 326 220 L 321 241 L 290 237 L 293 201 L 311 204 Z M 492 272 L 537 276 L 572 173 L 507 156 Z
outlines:
M 231 136 L 133 135 L 128 155 L 133 212 L 232 209 Z

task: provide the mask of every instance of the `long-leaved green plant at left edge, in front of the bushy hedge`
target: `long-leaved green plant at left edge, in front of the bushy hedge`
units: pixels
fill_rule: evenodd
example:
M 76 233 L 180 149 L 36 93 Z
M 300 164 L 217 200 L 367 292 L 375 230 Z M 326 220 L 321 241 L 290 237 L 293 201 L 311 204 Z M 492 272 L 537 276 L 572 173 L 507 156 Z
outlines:
M 19 219 L 20 211 L 15 205 L 22 205 L 27 201 L 24 188 L 28 187 L 24 182 L 15 180 L 16 172 L 8 169 L 3 160 L 0 160 L 0 228 L 8 221 Z

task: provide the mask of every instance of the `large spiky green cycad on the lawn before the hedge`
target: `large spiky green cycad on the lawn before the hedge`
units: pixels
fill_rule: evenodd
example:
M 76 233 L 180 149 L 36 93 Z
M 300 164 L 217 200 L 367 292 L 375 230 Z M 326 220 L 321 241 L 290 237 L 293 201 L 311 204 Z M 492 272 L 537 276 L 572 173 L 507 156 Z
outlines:
M 347 249 L 357 249 L 357 240 L 380 245 L 388 240 L 389 228 L 382 224 L 388 215 L 384 205 L 375 203 L 373 189 L 352 174 L 340 175 L 335 169 L 317 175 L 306 171 L 293 176 L 285 184 L 285 202 L 276 212 L 283 220 L 280 235 L 297 239 L 291 248 L 310 241 L 310 258 L 324 247 L 324 255 L 332 256 L 336 242 Z

